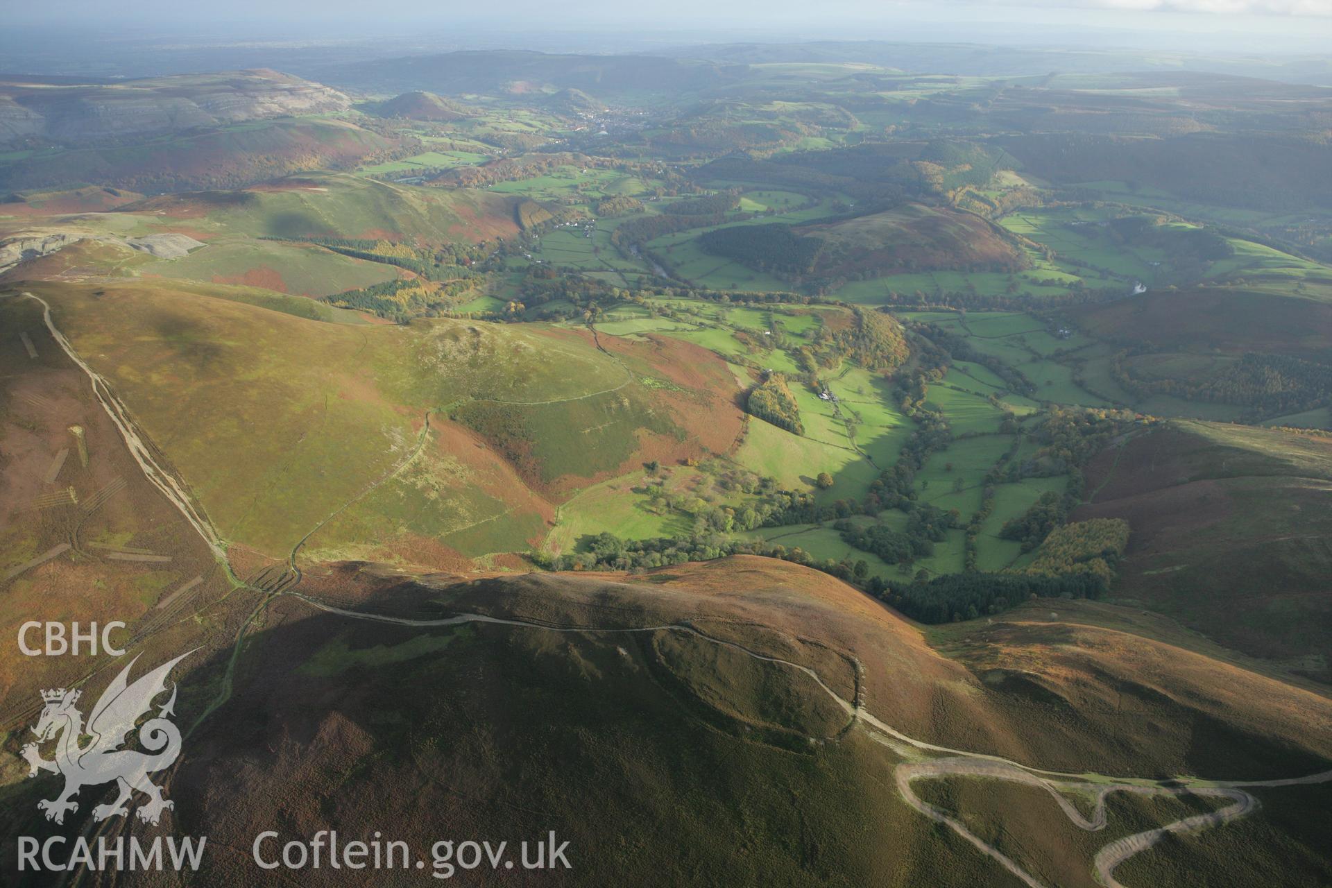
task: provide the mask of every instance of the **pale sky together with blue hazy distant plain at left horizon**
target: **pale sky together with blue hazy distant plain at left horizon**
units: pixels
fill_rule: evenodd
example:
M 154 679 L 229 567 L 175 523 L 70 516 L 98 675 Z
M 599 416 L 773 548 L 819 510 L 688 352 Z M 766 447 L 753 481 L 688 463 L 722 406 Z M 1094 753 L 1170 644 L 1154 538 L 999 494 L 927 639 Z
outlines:
M 316 48 L 352 61 L 456 49 L 650 52 L 807 40 L 1327 56 L 1332 0 L 510 0 L 502 8 L 401 0 L 384 15 L 352 0 L 234 0 L 206 9 L 176 0 L 67 0 L 7 11 L 0 71 L 297 71 L 301 51 Z

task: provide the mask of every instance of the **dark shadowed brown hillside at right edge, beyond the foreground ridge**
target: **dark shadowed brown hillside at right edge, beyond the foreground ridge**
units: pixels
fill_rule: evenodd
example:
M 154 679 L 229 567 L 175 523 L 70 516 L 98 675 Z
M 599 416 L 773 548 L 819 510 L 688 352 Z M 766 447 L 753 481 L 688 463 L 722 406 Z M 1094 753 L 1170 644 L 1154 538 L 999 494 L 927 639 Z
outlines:
M 1076 518 L 1127 518 L 1115 596 L 1223 644 L 1329 676 L 1332 443 L 1203 422 L 1128 441 L 1087 471 Z

